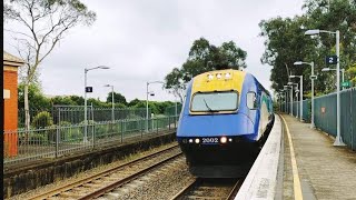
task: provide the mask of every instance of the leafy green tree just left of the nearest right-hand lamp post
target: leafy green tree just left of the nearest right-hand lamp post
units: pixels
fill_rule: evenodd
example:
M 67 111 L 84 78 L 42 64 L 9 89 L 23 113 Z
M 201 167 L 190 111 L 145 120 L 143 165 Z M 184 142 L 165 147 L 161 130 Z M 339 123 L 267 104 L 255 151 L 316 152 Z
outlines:
M 263 20 L 259 23 L 260 36 L 266 37 L 266 50 L 260 59 L 261 63 L 273 67 L 270 80 L 271 88 L 280 90 L 284 84 L 290 81 L 289 74 L 303 74 L 310 71 L 307 67 L 295 67 L 294 62 L 305 59 L 307 54 L 314 52 L 315 43 L 309 37 L 304 36 L 300 29 L 305 18 L 295 19 L 280 17 L 270 20 Z M 309 84 L 306 80 L 305 84 Z

